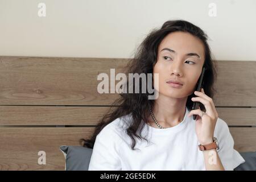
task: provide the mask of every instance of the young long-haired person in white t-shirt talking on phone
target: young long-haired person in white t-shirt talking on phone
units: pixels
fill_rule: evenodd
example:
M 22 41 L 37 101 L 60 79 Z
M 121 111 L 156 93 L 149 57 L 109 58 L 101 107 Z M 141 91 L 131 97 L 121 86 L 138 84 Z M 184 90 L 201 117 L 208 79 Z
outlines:
M 150 32 L 127 73 L 158 73 L 159 95 L 149 100 L 148 90 L 120 94 L 113 103 L 118 107 L 104 115 L 92 138 L 82 139 L 93 148 L 89 170 L 233 170 L 245 162 L 213 103 L 216 62 L 207 39 L 185 20 Z M 203 67 L 203 89 L 195 92 Z M 195 101 L 200 107 L 192 110 Z

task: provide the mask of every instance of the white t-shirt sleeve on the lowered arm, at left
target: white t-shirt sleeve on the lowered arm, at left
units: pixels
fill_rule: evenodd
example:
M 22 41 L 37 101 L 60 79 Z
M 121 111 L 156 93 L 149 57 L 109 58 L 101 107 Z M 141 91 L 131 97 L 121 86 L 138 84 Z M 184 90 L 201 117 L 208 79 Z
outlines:
M 121 160 L 119 159 L 119 136 L 107 125 L 97 135 L 88 171 L 119 171 Z

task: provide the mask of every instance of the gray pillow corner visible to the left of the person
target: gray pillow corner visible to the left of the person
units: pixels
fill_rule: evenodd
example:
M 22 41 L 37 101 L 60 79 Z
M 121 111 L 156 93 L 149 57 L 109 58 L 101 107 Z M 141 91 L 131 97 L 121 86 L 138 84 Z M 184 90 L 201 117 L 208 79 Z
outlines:
M 92 148 L 82 146 L 60 146 L 66 162 L 66 171 L 88 171 Z

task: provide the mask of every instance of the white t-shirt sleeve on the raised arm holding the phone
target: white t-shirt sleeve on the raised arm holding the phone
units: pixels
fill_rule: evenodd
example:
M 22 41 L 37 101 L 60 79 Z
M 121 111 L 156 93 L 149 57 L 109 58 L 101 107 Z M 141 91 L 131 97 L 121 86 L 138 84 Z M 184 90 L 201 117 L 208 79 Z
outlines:
M 218 156 L 220 157 L 224 169 L 226 171 L 233 171 L 234 168 L 244 163 L 245 160 L 240 153 L 234 149 L 234 140 L 226 122 L 218 118 L 216 126 L 218 130 L 214 135 L 216 135 L 220 146 L 220 149 L 217 150 Z

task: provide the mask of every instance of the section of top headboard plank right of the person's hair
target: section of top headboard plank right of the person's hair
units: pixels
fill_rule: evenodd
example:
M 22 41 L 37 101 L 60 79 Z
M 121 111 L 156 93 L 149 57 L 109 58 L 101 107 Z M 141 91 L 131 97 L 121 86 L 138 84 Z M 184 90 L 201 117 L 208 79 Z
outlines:
M 256 106 L 256 61 L 217 61 L 217 106 Z

